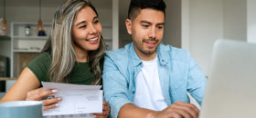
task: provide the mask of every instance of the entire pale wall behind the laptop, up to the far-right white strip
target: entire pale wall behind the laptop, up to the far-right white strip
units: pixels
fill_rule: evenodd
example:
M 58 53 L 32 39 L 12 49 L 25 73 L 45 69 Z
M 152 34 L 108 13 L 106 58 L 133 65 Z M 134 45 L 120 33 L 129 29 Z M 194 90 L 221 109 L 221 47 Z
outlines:
M 254 5 L 255 6 L 255 5 Z M 219 38 L 246 41 L 245 0 L 189 1 L 189 51 L 208 75 L 211 52 Z

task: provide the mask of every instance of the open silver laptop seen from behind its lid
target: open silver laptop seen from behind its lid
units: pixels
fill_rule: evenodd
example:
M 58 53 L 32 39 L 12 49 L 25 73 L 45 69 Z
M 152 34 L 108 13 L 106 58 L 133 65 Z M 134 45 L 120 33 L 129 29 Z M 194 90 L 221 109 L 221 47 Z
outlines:
M 256 118 L 256 44 L 218 40 L 199 118 Z

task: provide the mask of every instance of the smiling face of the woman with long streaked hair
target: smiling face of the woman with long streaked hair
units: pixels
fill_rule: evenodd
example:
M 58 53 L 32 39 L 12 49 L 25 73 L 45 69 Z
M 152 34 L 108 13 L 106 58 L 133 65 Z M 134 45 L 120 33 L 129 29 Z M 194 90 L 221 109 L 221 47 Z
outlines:
M 97 50 L 101 40 L 101 23 L 91 7 L 78 12 L 72 26 L 74 49 L 77 53 Z

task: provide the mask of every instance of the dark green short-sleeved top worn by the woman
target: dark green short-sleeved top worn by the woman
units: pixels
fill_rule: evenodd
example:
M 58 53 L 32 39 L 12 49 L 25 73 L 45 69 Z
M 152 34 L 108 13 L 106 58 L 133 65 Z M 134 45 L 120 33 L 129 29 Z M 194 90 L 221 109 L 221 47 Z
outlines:
M 48 71 L 51 62 L 51 55 L 48 53 L 42 53 L 27 64 L 27 68 L 37 76 L 39 82 L 50 82 Z M 101 59 L 100 63 L 102 70 L 103 59 Z M 91 71 L 89 63 L 75 62 L 75 65 L 69 74 L 69 84 L 92 84 L 94 79 L 95 74 Z

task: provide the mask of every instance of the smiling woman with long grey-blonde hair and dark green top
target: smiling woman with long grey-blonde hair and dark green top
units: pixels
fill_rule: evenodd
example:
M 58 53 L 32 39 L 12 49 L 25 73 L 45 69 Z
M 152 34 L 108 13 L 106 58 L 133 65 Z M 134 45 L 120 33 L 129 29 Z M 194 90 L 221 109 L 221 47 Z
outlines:
M 98 14 L 89 0 L 66 0 L 53 19 L 51 36 L 41 54 L 18 77 L 1 102 L 37 100 L 44 110 L 59 105 L 61 98 L 42 100 L 58 90 L 44 90 L 41 81 L 69 84 L 101 84 L 105 43 Z M 108 116 L 109 104 L 103 101 Z

